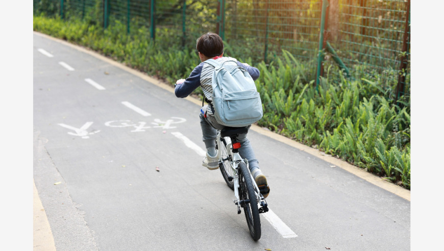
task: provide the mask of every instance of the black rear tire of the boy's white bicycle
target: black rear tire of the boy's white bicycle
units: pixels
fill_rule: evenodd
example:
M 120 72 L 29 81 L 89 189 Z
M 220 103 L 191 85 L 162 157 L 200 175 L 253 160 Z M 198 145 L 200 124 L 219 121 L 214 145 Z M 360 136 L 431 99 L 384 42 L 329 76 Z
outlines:
M 246 223 L 250 230 L 253 240 L 257 241 L 261 238 L 261 221 L 257 206 L 256 194 L 254 191 L 252 179 L 246 164 L 239 163 L 239 198 L 240 200 L 250 199 L 250 203 L 243 204 L 243 213 L 245 214 Z

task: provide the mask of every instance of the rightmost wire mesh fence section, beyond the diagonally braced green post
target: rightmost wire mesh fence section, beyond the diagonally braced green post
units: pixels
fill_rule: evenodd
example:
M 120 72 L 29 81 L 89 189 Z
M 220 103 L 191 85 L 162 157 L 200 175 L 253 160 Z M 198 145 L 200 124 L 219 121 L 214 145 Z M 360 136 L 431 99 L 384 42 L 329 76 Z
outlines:
M 331 31 L 337 32 L 332 44 L 344 64 L 365 65 L 379 74 L 380 82 L 399 81 L 400 95 L 405 93 L 410 82 L 410 1 L 343 0 L 338 30 Z

